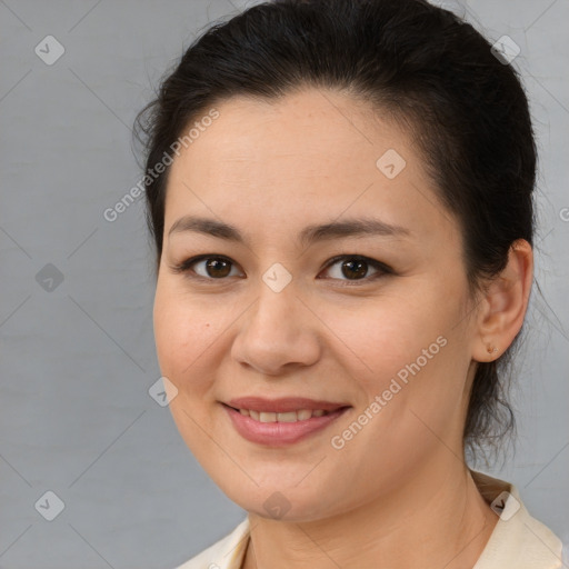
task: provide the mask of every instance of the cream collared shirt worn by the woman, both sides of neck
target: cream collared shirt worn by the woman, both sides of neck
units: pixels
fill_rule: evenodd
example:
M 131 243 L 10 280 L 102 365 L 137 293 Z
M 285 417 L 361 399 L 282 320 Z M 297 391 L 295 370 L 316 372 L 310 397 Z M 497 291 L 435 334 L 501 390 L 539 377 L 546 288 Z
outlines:
M 513 485 L 471 470 L 472 478 L 499 520 L 472 569 L 557 569 L 562 543 L 532 518 Z M 249 541 L 249 518 L 231 533 L 176 569 L 241 569 Z M 565 561 L 565 559 L 563 559 Z

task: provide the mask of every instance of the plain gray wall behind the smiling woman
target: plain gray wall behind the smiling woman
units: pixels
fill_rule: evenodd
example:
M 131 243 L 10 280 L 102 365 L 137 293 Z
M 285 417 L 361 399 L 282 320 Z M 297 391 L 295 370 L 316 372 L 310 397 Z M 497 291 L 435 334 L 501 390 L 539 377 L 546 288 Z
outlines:
M 441 3 L 521 48 L 545 299 L 533 291 L 518 359 L 517 453 L 487 471 L 567 542 L 569 1 Z M 102 212 L 140 179 L 132 120 L 162 73 L 249 4 L 0 0 L 1 568 L 172 568 L 244 517 L 148 393 L 160 371 L 142 201 L 112 223 Z M 66 50 L 51 66 L 34 52 L 49 34 Z M 64 502 L 53 521 L 34 508 L 48 490 Z

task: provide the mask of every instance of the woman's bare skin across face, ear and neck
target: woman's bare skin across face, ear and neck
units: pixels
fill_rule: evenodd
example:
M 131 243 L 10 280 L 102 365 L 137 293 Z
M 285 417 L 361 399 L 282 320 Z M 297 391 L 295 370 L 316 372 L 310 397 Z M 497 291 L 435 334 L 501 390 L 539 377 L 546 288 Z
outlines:
M 498 358 L 521 328 L 530 246 L 516 242 L 503 273 L 473 299 L 459 221 L 439 202 L 412 137 L 380 111 L 317 89 L 216 108 L 220 117 L 171 167 L 153 319 L 162 375 L 178 390 L 176 425 L 249 512 L 243 567 L 472 567 L 498 518 L 463 461 L 468 390 L 476 362 Z M 407 162 L 393 179 L 376 166 L 388 149 Z M 168 238 L 190 213 L 237 227 L 248 244 L 190 231 Z M 296 242 L 308 224 L 360 217 L 409 234 Z M 230 276 L 208 273 L 203 261 L 192 266 L 201 281 L 172 270 L 198 254 L 229 258 Z M 341 260 L 327 268 L 338 254 L 395 272 L 375 279 L 367 266 L 350 280 Z M 280 292 L 262 280 L 276 262 L 292 276 Z M 331 437 L 441 336 L 447 345 L 333 448 Z M 498 351 L 489 355 L 489 343 Z M 308 439 L 271 448 L 241 438 L 220 405 L 248 395 L 352 408 Z M 263 507 L 277 491 L 289 506 L 280 519 Z

